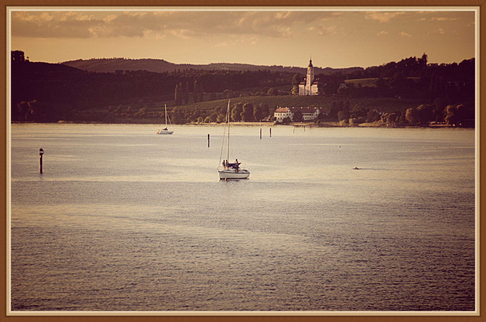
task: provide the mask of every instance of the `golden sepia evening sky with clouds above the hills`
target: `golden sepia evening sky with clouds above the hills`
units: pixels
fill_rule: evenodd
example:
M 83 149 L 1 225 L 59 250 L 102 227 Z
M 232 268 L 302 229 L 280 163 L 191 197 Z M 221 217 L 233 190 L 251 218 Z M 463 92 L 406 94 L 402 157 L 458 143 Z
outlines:
M 476 51 L 472 7 L 7 9 L 11 50 L 48 63 L 124 57 L 307 67 L 312 55 L 314 67 L 366 68 L 424 53 L 429 63 L 459 63 Z

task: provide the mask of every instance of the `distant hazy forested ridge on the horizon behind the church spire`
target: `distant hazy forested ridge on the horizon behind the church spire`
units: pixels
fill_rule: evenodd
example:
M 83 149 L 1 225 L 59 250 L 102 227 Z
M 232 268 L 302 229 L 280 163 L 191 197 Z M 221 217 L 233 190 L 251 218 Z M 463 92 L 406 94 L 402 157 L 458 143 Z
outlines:
M 236 63 L 211 63 L 207 65 L 174 64 L 163 59 L 127 59 L 127 58 L 91 58 L 65 61 L 61 64 L 79 68 L 88 72 L 115 72 L 120 71 L 148 71 L 148 72 L 173 72 L 174 70 L 206 70 L 206 71 L 258 71 L 269 70 L 271 72 L 293 72 L 307 74 L 307 67 L 294 66 L 263 66 Z M 363 71 L 362 67 L 334 69 L 330 67 L 314 67 L 315 74 L 329 74 L 332 72 L 351 73 Z

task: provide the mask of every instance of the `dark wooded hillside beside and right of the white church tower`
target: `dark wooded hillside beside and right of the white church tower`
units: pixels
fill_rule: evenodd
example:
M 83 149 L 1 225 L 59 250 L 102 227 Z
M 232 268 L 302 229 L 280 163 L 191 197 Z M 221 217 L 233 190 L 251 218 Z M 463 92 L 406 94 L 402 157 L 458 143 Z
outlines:
M 453 103 L 473 101 L 475 94 L 475 58 L 464 59 L 459 64 L 428 64 L 427 55 L 409 57 L 398 63 L 390 62 L 351 73 L 334 72 L 318 74 L 319 94 L 345 97 L 402 97 L 434 101 L 436 98 Z M 377 78 L 375 86 L 361 86 L 347 82 L 350 79 Z M 303 76 L 295 74 L 292 93 L 298 93 L 298 83 Z M 323 86 L 326 84 L 326 86 Z

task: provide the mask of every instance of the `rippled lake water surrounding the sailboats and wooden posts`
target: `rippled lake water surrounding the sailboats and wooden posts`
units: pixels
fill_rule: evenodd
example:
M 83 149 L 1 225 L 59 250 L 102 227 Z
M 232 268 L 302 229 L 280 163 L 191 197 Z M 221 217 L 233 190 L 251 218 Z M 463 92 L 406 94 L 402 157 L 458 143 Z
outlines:
M 11 310 L 475 310 L 473 129 L 223 127 L 12 125 Z

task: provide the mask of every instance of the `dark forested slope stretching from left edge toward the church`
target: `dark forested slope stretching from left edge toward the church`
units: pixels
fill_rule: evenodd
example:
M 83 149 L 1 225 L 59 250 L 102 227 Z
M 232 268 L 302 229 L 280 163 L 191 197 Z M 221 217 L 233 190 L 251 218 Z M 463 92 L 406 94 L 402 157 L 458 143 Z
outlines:
M 266 86 L 289 85 L 293 73 L 259 71 L 174 70 L 172 72 L 121 71 L 87 72 L 62 65 L 30 62 L 21 51 L 12 51 L 12 115 L 17 104 L 34 100 L 52 105 L 51 109 L 71 108 L 74 112 L 92 107 L 125 105 L 143 100 L 186 101 L 187 84 L 197 82 L 197 91 L 189 87 L 195 101 L 204 91 L 222 92 Z M 182 84 L 182 86 L 181 86 Z M 204 89 L 201 87 L 204 84 Z M 182 100 L 182 101 L 181 101 Z M 14 118 L 15 116 L 15 118 Z

